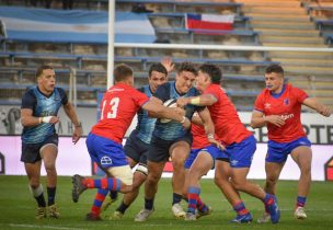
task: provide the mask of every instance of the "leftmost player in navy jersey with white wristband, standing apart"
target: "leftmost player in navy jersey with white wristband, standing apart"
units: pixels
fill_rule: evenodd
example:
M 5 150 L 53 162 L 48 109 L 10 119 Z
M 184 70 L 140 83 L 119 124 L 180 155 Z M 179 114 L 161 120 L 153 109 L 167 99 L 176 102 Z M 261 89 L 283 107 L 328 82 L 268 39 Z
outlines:
M 82 135 L 81 123 L 74 108 L 68 101 L 66 92 L 56 85 L 56 73 L 49 66 L 42 66 L 36 71 L 37 85 L 28 89 L 22 97 L 21 123 L 22 156 L 25 171 L 28 177 L 28 187 L 37 200 L 37 219 L 47 216 L 58 218 L 59 212 L 55 205 L 57 170 L 56 159 L 58 154 L 58 135 L 55 124 L 60 106 L 74 125 L 72 141 L 77 143 Z M 41 184 L 42 159 L 47 173 L 48 210 L 44 191 Z

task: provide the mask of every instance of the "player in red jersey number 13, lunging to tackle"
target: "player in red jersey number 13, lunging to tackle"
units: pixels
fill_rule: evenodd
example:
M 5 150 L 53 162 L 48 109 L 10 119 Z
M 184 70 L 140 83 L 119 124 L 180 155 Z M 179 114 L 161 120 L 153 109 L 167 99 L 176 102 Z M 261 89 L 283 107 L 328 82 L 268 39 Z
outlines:
M 101 102 L 101 119 L 92 127 L 87 138 L 87 147 L 92 161 L 106 173 L 101 180 L 85 179 L 76 174 L 72 177 L 72 199 L 87 188 L 99 188 L 88 220 L 100 220 L 101 205 L 110 191 L 128 193 L 131 191 L 133 173 L 122 146 L 124 135 L 131 119 L 141 107 L 153 112 L 159 118 L 174 119 L 188 128 L 191 123 L 180 108 L 168 108 L 149 101 L 149 97 L 134 85 L 133 70 L 119 65 L 114 70 L 115 85 L 110 88 Z M 176 112 L 176 113 L 175 113 Z

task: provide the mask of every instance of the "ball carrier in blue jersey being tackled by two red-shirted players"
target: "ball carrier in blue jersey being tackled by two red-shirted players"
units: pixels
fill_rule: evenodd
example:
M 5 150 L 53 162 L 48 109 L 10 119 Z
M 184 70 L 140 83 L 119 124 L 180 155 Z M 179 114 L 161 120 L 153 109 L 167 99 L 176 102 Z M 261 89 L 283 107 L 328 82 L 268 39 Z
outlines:
M 162 104 L 170 99 L 198 95 L 198 91 L 193 88 L 196 74 L 197 71 L 192 64 L 183 62 L 177 71 L 175 81 L 160 85 L 151 97 L 151 101 Z M 214 125 L 206 107 L 190 105 L 185 107 L 185 111 L 187 118 L 191 118 L 193 113 L 197 111 L 206 126 L 205 130 L 207 134 L 214 135 Z M 213 143 L 217 143 L 214 138 L 209 140 Z M 176 218 L 185 217 L 185 211 L 182 209 L 180 203 L 185 180 L 184 162 L 188 157 L 191 145 L 191 130 L 184 129 L 175 122 L 163 123 L 161 119 L 157 120 L 147 154 L 148 177 L 145 184 L 145 208 L 135 217 L 135 221 L 146 221 L 153 212 L 153 199 L 157 193 L 158 182 L 163 172 L 164 164 L 170 157 L 174 169 L 172 180 L 172 211 Z

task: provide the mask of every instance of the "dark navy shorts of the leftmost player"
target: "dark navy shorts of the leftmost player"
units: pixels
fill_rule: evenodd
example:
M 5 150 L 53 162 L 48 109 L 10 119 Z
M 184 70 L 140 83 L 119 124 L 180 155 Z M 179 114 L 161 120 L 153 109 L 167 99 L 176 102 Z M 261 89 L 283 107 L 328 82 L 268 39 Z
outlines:
M 54 134 L 39 143 L 23 143 L 21 161 L 24 163 L 35 163 L 42 160 L 41 149 L 46 145 L 55 145 L 58 147 L 59 138 L 57 134 Z

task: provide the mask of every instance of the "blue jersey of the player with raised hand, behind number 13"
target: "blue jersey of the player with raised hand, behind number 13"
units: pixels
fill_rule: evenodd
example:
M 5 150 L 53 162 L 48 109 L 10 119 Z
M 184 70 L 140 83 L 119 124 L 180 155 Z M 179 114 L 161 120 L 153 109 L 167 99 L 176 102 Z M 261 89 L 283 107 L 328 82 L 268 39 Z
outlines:
M 148 97 L 152 95 L 149 84 L 139 88 L 138 91 L 145 93 Z M 157 119 L 149 117 L 148 112 L 142 108 L 140 108 L 137 114 L 138 114 L 138 124 L 136 127 L 136 130 L 138 131 L 137 137 L 143 142 L 150 143 L 150 139 L 154 128 L 154 123 Z

